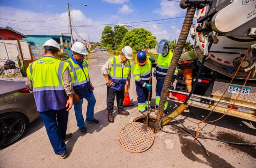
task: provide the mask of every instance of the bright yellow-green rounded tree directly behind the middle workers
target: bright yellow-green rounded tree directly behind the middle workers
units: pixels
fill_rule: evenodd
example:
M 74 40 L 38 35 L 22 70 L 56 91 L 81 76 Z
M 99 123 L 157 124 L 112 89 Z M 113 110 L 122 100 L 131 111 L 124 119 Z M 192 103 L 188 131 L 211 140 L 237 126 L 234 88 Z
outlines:
M 156 37 L 152 36 L 151 32 L 140 28 L 127 32 L 120 47 L 130 46 L 134 51 L 138 52 L 142 49 L 154 48 L 156 43 Z

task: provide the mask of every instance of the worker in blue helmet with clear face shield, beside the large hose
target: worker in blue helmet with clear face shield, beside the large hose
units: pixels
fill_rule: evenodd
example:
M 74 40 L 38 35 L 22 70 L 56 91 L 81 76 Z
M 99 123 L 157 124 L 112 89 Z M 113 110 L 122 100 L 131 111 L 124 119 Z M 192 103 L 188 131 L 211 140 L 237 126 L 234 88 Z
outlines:
M 155 99 L 155 110 L 158 110 L 158 105 L 160 101 L 160 96 L 162 92 L 162 88 L 164 85 L 164 79 L 167 74 L 167 70 L 170 66 L 171 60 L 173 58 L 173 52 L 170 51 L 169 42 L 165 39 L 161 40 L 158 44 L 156 44 L 154 49 L 155 54 L 158 55 L 156 70 L 154 70 L 154 76 L 156 76 L 156 99 Z M 173 80 L 171 83 L 171 89 L 173 89 L 173 82 L 176 78 L 178 70 L 176 68 Z M 168 101 L 166 101 L 164 106 L 164 113 L 167 113 Z

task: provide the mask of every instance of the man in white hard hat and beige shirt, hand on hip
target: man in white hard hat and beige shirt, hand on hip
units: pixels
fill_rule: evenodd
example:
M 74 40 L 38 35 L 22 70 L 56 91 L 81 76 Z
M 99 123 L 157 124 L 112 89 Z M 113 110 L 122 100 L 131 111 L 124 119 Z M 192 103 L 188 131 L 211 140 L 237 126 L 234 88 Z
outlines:
M 117 114 L 128 116 L 129 112 L 123 109 L 124 87 L 127 79 L 127 90 L 130 89 L 131 78 L 131 59 L 133 49 L 130 46 L 125 46 L 122 53 L 108 59 L 105 65 L 101 68 L 103 76 L 107 81 L 107 112 L 108 122 L 113 123 L 114 100 L 117 96 Z

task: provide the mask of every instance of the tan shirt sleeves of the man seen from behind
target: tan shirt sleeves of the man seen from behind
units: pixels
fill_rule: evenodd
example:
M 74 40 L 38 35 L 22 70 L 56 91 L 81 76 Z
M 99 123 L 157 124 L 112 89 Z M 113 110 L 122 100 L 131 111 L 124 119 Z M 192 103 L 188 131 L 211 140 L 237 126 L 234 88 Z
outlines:
M 65 69 L 64 73 L 62 74 L 62 79 L 64 82 L 64 90 L 65 90 L 67 96 L 74 94 L 73 84 L 72 84 L 71 75 L 70 75 L 68 67 Z M 26 86 L 30 92 L 33 92 L 33 84 L 28 76 L 26 79 Z

